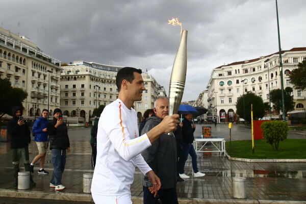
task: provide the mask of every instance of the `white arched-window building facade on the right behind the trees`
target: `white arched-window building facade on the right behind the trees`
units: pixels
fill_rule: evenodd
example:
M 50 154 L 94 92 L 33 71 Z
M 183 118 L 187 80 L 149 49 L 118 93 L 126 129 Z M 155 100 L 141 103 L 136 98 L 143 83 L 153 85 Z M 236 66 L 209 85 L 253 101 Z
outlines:
M 279 70 L 279 53 L 257 59 L 234 62 L 214 68 L 208 89 L 208 115 L 217 117 L 219 122 L 237 121 L 236 101 L 243 93 L 251 91 L 269 103 L 269 92 L 281 89 L 283 71 L 284 89 L 292 87 L 289 75 L 299 62 L 306 60 L 306 47 L 296 47 L 282 51 L 283 69 Z M 293 88 L 295 110 L 304 109 L 306 91 Z M 271 107 L 273 104 L 271 104 Z M 272 117 L 279 113 L 272 110 Z M 281 113 L 282 114 L 282 113 Z

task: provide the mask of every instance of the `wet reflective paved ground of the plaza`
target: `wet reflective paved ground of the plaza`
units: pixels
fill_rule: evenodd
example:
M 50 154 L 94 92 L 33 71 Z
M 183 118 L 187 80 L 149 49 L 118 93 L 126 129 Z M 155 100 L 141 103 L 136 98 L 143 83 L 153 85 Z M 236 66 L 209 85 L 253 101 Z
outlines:
M 197 125 L 195 136 L 201 135 L 201 126 Z M 227 124 L 212 125 L 212 136 L 229 140 Z M 297 134 L 299 133 L 299 134 Z M 69 129 L 71 152 L 67 154 L 63 185 L 66 189 L 55 192 L 49 188 L 53 165 L 50 154 L 46 156 L 45 170 L 49 175 L 38 174 L 37 163 L 33 180 L 35 187 L 27 190 L 17 190 L 13 186 L 10 144 L 0 143 L 0 201 L 3 197 L 37 198 L 48 200 L 66 200 L 92 202 L 91 195 L 83 193 L 83 174 L 93 172 L 91 169 L 90 129 Z M 251 139 L 251 130 L 243 125 L 233 125 L 232 140 Z M 290 131 L 288 138 L 305 139 L 305 132 Z M 34 142 L 30 144 L 30 160 L 37 154 Z M 198 153 L 198 168 L 205 172 L 204 177 L 193 177 L 190 158 L 186 162 L 185 172 L 190 179 L 177 184 L 179 203 L 306 203 L 306 162 L 243 162 L 228 160 L 218 153 Z M 22 166 L 22 165 L 20 165 Z M 23 171 L 23 169 L 21 170 Z M 247 199 L 233 198 L 233 177 L 246 177 Z M 142 203 L 141 174 L 137 169 L 135 181 L 131 187 L 133 203 Z M 2 198 L 1 198 L 2 197 Z M 23 199 L 25 201 L 27 199 Z M 11 202 L 1 202 L 11 203 Z M 27 203 L 27 202 L 14 202 Z

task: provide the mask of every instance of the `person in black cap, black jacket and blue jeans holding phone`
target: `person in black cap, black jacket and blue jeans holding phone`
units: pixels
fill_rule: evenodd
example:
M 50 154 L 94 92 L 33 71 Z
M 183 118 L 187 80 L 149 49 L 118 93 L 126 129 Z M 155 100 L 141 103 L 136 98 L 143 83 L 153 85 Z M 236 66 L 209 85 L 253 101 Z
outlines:
M 66 164 L 66 150 L 70 152 L 70 142 L 67 125 L 63 121 L 61 109 L 55 109 L 53 114 L 53 120 L 47 124 L 53 164 L 50 187 L 60 191 L 66 188 L 62 184 L 62 175 Z

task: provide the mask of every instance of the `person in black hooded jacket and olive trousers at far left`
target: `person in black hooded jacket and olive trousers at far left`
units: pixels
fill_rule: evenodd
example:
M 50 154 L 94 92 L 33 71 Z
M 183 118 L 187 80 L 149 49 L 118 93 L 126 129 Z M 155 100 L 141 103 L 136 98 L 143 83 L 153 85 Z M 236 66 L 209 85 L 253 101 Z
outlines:
M 30 171 L 29 144 L 31 142 L 31 132 L 27 123 L 23 120 L 22 109 L 20 107 L 14 107 L 12 114 L 13 119 L 8 122 L 8 134 L 11 135 L 11 155 L 15 177 L 14 186 L 17 186 L 20 159 L 24 164 L 24 170 Z M 30 176 L 30 185 L 36 185 L 32 175 Z

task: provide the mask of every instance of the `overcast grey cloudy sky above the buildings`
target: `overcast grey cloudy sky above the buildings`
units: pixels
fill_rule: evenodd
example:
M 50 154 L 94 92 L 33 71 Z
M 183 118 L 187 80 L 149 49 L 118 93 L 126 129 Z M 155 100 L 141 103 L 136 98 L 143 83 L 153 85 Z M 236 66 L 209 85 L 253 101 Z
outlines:
M 306 1 L 278 0 L 282 49 L 306 46 Z M 167 94 L 188 30 L 183 101 L 206 90 L 213 68 L 278 52 L 275 0 L 2 0 L 0 25 L 62 63 L 133 66 Z

